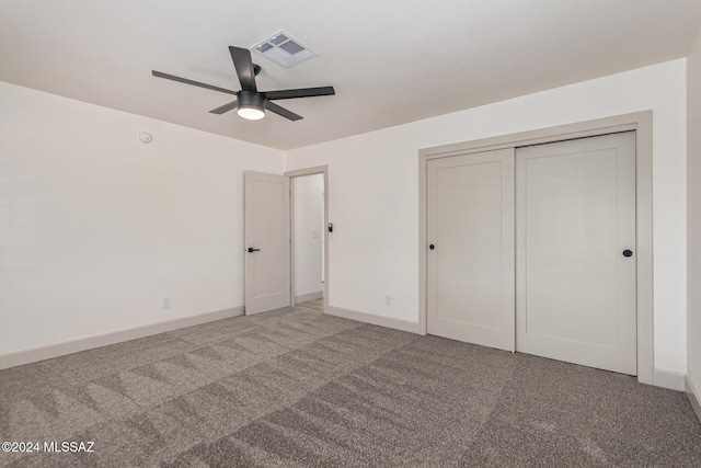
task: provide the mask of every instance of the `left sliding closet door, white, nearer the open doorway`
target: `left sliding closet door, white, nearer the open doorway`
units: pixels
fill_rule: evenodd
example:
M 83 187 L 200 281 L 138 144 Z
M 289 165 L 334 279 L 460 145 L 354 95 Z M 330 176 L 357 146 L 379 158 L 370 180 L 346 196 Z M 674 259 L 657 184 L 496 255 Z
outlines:
M 427 168 L 427 331 L 514 351 L 514 149 Z

